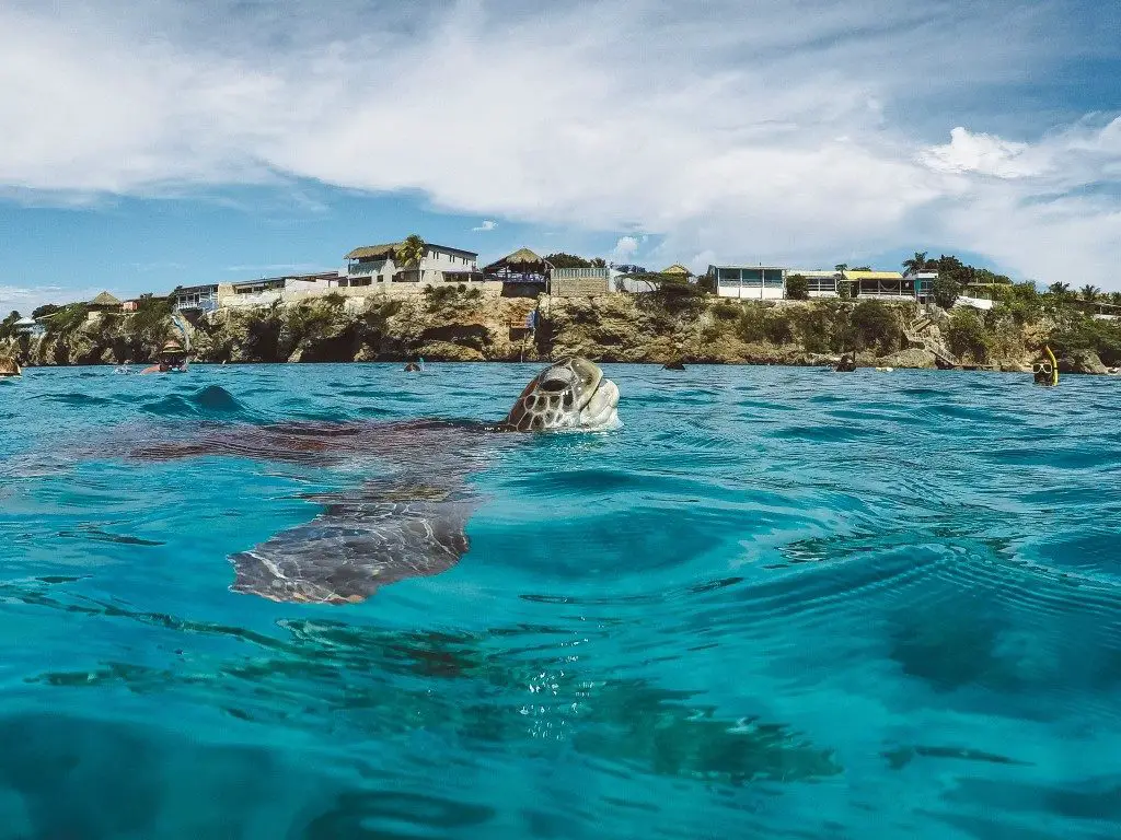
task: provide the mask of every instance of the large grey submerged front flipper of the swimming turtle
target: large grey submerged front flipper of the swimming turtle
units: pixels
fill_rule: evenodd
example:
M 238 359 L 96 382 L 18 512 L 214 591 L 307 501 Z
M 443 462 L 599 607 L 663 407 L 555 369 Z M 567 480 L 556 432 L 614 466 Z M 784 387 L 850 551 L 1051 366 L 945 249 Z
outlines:
M 382 482 L 313 498 L 327 503 L 313 521 L 230 558 L 233 591 L 277 601 L 363 601 L 379 587 L 455 566 L 478 504 L 466 485 Z

